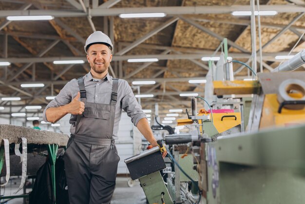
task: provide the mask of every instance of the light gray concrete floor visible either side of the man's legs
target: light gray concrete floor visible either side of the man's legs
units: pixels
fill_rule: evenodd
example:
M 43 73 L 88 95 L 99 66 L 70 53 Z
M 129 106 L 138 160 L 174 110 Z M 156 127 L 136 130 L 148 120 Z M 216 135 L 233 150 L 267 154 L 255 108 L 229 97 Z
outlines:
M 18 189 L 20 180 L 18 178 L 12 178 L 9 183 L 4 188 L 1 186 L 1 195 L 4 192 L 5 196 L 15 195 L 14 192 Z M 3 183 L 3 179 L 1 181 Z M 27 189 L 27 193 L 31 189 Z M 20 190 L 17 195 L 23 193 L 23 190 Z M 1 200 L 2 202 L 2 200 Z M 7 202 L 7 204 L 23 204 L 23 199 L 13 199 Z M 146 197 L 143 189 L 140 186 L 140 183 L 136 181 L 133 187 L 129 187 L 126 177 L 117 177 L 116 178 L 116 187 L 114 190 L 114 196 L 111 204 L 146 204 Z

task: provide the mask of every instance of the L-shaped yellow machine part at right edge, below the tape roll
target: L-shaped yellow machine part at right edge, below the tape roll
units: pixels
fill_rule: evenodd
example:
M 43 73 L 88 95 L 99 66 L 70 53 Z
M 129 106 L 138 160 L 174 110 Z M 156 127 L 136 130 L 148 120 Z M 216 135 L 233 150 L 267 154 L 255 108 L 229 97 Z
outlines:
M 260 129 L 272 126 L 305 124 L 305 108 L 291 110 L 283 107 L 282 112 L 278 113 L 279 106 L 280 103 L 277 101 L 277 94 L 265 95 Z

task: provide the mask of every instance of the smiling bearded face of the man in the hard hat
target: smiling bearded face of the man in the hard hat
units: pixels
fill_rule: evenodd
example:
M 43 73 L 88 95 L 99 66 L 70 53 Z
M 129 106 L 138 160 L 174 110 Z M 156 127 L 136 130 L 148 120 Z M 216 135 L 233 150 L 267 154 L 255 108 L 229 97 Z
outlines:
M 111 50 L 104 44 L 93 44 L 87 50 L 87 60 L 91 69 L 97 74 L 108 70 L 112 59 Z

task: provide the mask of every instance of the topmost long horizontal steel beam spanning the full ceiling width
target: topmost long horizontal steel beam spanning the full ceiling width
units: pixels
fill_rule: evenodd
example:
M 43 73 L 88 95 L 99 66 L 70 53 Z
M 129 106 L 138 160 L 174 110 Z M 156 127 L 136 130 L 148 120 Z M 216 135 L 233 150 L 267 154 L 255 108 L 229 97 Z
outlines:
M 261 5 L 261 11 L 273 10 L 278 13 L 299 13 L 305 12 L 305 7 L 300 5 Z M 156 13 L 163 12 L 170 15 L 187 14 L 229 14 L 233 11 L 249 11 L 248 5 L 232 6 L 160 6 L 160 7 L 140 7 L 140 8 L 94 8 L 91 9 L 91 16 L 118 16 L 123 13 Z M 81 11 L 63 10 L 5 10 L 1 11 L 0 17 L 6 16 L 37 16 L 51 15 L 54 17 L 84 17 L 87 16 Z

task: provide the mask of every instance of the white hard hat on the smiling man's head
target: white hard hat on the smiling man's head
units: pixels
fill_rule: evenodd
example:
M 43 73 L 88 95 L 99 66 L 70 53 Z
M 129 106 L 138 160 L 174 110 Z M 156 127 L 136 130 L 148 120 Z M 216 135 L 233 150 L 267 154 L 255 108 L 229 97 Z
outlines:
M 111 51 L 113 50 L 113 47 L 114 47 L 110 38 L 101 31 L 95 31 L 93 34 L 91 34 L 87 38 L 87 41 L 86 41 L 86 44 L 84 47 L 86 53 L 87 53 L 87 50 L 90 47 L 90 45 L 93 45 L 93 44 L 105 44 L 111 49 Z

